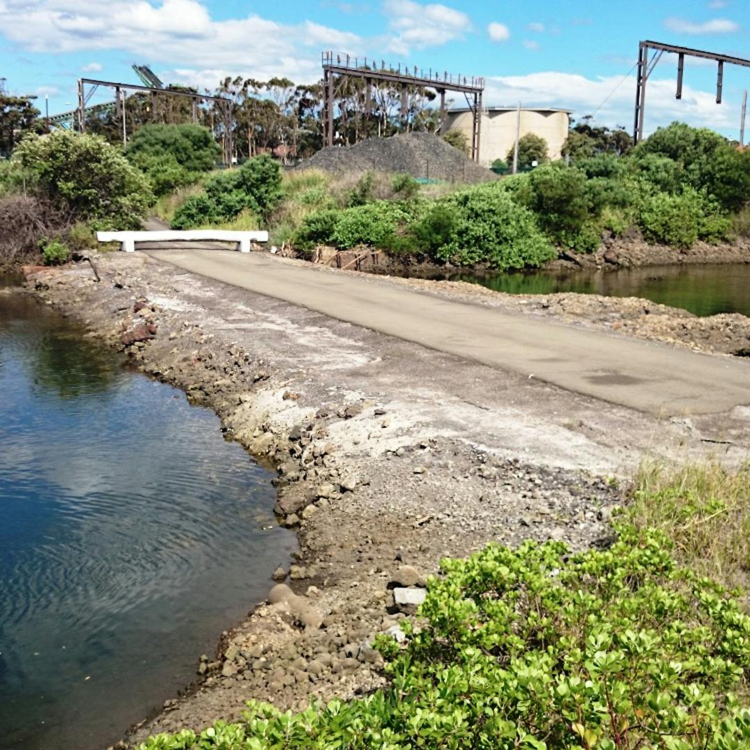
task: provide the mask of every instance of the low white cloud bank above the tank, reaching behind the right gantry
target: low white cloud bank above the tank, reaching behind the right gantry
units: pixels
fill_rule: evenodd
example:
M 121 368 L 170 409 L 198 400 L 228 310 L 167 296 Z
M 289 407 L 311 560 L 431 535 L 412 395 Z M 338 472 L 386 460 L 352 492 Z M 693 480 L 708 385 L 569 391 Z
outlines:
M 577 74 L 547 71 L 526 76 L 487 77 L 484 102 L 487 106 L 562 107 L 574 110 L 574 117 L 592 115 L 610 127 L 620 124 L 630 130 L 633 121 L 635 79 L 621 76 L 586 78 Z M 731 130 L 739 121 L 739 102 L 716 104 L 715 91 L 703 92 L 683 86 L 682 99 L 674 98 L 673 77 L 650 78 L 646 92 L 646 132 L 673 120 L 695 126 Z M 607 97 L 609 97 L 607 99 Z M 606 103 L 602 102 L 607 99 Z

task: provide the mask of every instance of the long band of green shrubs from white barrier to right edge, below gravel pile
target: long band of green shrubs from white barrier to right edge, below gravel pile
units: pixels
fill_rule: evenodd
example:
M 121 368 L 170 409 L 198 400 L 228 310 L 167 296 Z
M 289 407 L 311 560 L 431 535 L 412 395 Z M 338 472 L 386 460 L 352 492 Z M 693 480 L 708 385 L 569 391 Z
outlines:
M 262 222 L 273 242 L 299 251 L 362 245 L 496 269 L 538 266 L 553 246 L 592 252 L 607 234 L 634 229 L 679 248 L 748 232 L 748 154 L 721 136 L 672 124 L 631 149 L 621 130 L 586 121 L 571 130 L 568 147 L 576 139 L 583 145 L 569 152 L 570 165 L 542 163 L 471 188 L 379 172 L 306 170 L 282 181 L 275 163 L 258 157 L 187 196 L 172 226 L 227 226 L 244 217 L 243 226 Z M 521 166 L 546 159 L 543 139 L 522 141 Z

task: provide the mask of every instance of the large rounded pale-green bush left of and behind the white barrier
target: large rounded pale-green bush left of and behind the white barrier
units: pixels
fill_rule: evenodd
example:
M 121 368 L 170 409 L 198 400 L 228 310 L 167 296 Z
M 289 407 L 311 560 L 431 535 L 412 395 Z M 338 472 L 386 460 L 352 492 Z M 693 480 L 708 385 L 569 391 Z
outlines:
M 104 138 L 55 130 L 29 135 L 13 159 L 44 199 L 99 229 L 140 226 L 151 202 L 145 177 Z

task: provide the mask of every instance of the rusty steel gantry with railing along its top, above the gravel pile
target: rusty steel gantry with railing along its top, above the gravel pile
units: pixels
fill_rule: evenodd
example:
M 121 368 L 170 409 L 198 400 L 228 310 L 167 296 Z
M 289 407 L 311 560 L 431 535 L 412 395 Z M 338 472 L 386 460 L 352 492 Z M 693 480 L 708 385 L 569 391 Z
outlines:
M 446 120 L 446 91 L 459 92 L 466 97 L 472 111 L 473 130 L 471 154 L 479 160 L 479 137 L 481 135 L 481 97 L 484 92 L 484 79 L 475 76 L 461 76 L 447 72 L 425 71 L 415 67 L 392 64 L 383 60 L 357 58 L 346 52 L 323 52 L 323 140 L 326 145 L 334 142 L 334 107 L 336 101 L 336 81 L 344 78 L 359 78 L 365 81 L 365 113 L 372 106 L 371 86 L 376 81 L 391 83 L 401 89 L 401 118 L 407 118 L 407 92 L 410 86 L 434 89 L 440 94 L 440 128 Z M 469 101 L 469 97 L 472 101 Z

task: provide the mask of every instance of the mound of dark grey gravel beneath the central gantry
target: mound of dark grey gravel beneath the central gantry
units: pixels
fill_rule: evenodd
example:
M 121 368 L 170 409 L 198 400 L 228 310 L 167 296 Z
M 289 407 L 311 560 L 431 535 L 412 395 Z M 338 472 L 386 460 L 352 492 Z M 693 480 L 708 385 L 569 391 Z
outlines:
M 471 183 L 496 176 L 432 133 L 402 133 L 390 138 L 370 138 L 356 145 L 329 146 L 301 165 L 302 169 L 308 167 L 338 174 L 370 169 L 406 172 L 413 177 Z

